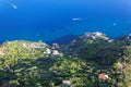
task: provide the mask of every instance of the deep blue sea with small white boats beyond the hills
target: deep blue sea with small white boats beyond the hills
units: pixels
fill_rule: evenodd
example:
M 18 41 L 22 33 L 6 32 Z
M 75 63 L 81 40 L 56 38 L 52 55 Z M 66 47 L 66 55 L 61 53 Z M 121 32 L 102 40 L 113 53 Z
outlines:
M 130 34 L 131 0 L 0 0 L 1 42 L 66 42 L 85 32 Z

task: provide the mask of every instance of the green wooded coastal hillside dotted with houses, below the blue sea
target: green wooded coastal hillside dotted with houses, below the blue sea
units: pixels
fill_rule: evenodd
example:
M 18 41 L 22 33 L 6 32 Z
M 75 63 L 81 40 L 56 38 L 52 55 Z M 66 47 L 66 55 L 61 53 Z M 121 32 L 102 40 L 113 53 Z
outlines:
M 9 41 L 0 47 L 0 85 L 11 87 L 130 87 L 131 45 L 85 33 L 71 44 Z M 59 47 L 59 48 L 58 48 Z

